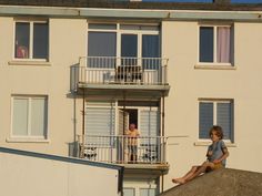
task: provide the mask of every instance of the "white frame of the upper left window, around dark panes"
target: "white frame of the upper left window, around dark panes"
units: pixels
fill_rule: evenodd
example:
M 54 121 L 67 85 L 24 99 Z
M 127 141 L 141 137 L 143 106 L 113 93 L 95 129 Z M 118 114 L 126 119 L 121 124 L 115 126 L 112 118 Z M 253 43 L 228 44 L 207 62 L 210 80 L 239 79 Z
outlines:
M 17 23 L 29 23 L 29 50 L 28 50 L 28 58 L 17 58 L 16 56 L 16 27 Z M 47 43 L 47 58 L 46 59 L 36 59 L 33 58 L 33 24 L 34 23 L 46 23 L 48 25 L 48 43 Z M 13 20 L 13 47 L 12 47 L 12 58 L 14 61 L 36 61 L 36 62 L 49 62 L 50 58 L 50 27 L 49 27 L 49 20 L 47 19 L 14 19 Z

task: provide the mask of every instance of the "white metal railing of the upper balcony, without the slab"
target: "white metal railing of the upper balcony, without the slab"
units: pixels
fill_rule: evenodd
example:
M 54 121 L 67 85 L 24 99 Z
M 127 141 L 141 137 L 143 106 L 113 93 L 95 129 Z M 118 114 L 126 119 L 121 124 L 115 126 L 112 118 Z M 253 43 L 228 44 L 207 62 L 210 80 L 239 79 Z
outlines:
M 92 84 L 164 85 L 168 59 L 162 58 L 80 58 L 78 82 Z

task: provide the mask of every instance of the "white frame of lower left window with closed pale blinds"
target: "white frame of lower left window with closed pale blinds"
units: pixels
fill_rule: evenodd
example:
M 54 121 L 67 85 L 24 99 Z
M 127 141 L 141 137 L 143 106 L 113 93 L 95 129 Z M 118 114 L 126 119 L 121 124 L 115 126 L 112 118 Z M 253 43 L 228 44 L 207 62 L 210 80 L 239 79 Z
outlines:
M 13 133 L 13 114 L 14 114 L 14 99 L 22 99 L 22 100 L 28 100 L 28 127 L 27 127 L 27 135 L 16 135 Z M 31 121 L 32 121 L 32 117 L 31 117 L 31 113 L 32 113 L 32 100 L 44 100 L 47 105 L 46 105 L 46 109 L 44 109 L 44 115 L 46 115 L 46 118 L 44 118 L 44 127 L 46 130 L 43 131 L 42 135 L 32 135 L 32 132 L 31 132 Z M 11 132 L 10 132 L 10 138 L 8 141 L 10 142 L 48 142 L 48 138 L 49 138 L 49 132 L 48 132 L 48 113 L 49 113 L 49 110 L 48 110 L 48 102 L 49 102 L 49 97 L 48 95 L 12 95 L 11 96 Z

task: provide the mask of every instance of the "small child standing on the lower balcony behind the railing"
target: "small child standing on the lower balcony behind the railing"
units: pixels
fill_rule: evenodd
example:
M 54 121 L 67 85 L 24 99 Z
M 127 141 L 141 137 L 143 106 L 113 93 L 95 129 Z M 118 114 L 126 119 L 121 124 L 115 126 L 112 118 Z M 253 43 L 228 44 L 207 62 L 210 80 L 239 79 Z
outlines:
M 134 123 L 129 125 L 125 135 L 128 136 L 128 158 L 131 163 L 135 163 L 138 161 L 138 137 L 140 136 L 140 133 L 135 128 Z

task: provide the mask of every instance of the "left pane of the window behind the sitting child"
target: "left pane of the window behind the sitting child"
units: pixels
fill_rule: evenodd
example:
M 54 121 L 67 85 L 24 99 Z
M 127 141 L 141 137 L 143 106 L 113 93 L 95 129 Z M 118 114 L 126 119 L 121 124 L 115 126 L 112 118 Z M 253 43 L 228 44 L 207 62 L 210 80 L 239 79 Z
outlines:
M 209 130 L 213 126 L 213 103 L 200 103 L 199 110 L 199 138 L 209 138 Z

